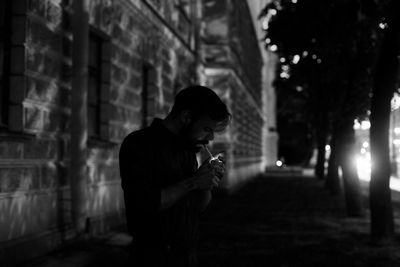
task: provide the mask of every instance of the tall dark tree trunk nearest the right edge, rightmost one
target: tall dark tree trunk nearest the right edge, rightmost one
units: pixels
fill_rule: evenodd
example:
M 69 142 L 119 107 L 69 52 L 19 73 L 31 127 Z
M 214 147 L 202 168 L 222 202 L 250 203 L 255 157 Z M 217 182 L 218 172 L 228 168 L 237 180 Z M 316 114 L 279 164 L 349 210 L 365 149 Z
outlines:
M 390 24 L 384 34 L 376 65 L 371 100 L 371 238 L 376 243 L 391 242 L 394 236 L 393 208 L 389 187 L 389 121 L 391 98 L 398 80 L 399 27 L 397 24 Z

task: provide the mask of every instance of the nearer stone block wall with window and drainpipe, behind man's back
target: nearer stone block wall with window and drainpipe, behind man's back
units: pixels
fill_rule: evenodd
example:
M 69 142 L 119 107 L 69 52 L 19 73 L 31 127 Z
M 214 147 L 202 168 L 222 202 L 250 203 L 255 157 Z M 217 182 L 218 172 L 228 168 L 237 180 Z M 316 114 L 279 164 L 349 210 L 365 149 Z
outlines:
M 69 133 L 72 1 L 10 2 L 10 123 L 0 133 L 1 266 L 74 237 L 69 182 L 74 156 Z M 154 116 L 166 115 L 176 92 L 196 82 L 196 67 L 194 22 L 184 13 L 188 6 L 155 0 L 89 3 L 90 32 L 102 43 L 100 133 L 85 144 L 87 231 L 96 233 L 124 224 L 120 142 Z

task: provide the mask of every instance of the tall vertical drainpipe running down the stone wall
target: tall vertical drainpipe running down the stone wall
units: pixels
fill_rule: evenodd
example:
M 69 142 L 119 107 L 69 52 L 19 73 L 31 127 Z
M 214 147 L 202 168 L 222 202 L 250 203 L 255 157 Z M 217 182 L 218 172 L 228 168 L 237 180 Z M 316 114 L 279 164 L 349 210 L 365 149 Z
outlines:
M 70 181 L 72 219 L 81 234 L 87 217 L 88 0 L 74 1 L 73 12 Z

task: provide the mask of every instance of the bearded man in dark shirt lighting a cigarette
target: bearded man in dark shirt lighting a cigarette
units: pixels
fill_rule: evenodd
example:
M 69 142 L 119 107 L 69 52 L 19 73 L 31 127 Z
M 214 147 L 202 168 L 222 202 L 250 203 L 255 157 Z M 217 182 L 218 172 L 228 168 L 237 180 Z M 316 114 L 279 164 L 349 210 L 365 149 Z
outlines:
M 199 214 L 224 174 L 223 161 L 198 167 L 196 153 L 231 115 L 209 88 L 192 86 L 171 112 L 129 134 L 119 154 L 134 266 L 195 266 Z

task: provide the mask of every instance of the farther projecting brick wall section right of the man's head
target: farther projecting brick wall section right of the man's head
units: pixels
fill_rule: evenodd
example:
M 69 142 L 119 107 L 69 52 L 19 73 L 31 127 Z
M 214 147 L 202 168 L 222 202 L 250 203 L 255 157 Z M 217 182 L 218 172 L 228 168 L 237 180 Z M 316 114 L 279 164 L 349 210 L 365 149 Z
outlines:
M 233 115 L 228 133 L 214 144 L 228 151 L 228 190 L 260 173 L 265 164 L 264 62 L 253 27 L 245 1 L 207 0 L 203 7 L 203 79 L 228 96 L 224 99 Z

